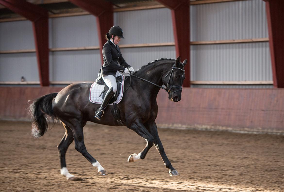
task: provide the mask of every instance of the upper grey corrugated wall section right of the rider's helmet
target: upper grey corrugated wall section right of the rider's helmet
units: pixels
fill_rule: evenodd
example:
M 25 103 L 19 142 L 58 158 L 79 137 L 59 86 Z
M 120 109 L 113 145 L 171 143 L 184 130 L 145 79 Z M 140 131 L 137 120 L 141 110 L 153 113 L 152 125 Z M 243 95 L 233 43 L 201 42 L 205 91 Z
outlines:
M 121 44 L 174 42 L 168 8 L 115 12 L 114 25 L 123 29 Z

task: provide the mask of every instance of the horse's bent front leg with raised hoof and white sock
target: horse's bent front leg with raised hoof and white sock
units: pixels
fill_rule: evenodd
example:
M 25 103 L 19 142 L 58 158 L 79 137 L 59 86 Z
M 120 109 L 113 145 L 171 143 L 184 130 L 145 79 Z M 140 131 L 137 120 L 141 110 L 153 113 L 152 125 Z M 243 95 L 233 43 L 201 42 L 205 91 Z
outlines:
M 137 161 L 139 159 L 144 159 L 147 152 L 149 151 L 149 149 L 153 146 L 154 144 L 154 138 L 153 136 L 149 133 L 149 131 L 145 128 L 145 126 L 143 125 L 143 123 L 141 122 L 140 119 L 135 120 L 134 123 L 132 123 L 130 125 L 130 127 L 128 127 L 129 129 L 132 129 L 133 131 L 135 131 L 135 133 L 137 133 L 138 135 L 140 135 L 141 137 L 143 137 L 146 140 L 146 146 L 145 148 L 142 150 L 142 152 L 138 153 L 138 155 L 136 153 L 131 154 L 128 157 L 128 162 L 133 162 L 133 161 Z

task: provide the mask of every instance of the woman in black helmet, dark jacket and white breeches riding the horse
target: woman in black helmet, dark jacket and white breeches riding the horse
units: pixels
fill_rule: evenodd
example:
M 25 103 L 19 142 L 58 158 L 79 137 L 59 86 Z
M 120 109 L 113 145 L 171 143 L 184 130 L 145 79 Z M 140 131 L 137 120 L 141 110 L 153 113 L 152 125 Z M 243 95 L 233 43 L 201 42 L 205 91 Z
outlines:
M 117 45 L 121 38 L 124 39 L 123 30 L 119 26 L 111 27 L 108 33 L 106 33 L 106 39 L 108 41 L 103 46 L 104 64 L 101 68 L 101 76 L 103 77 L 103 80 L 109 89 L 106 92 L 100 108 L 98 108 L 96 111 L 95 118 L 98 120 L 101 120 L 106 106 L 110 102 L 110 99 L 114 93 L 116 93 L 117 84 L 115 77 L 121 75 L 119 72 L 124 72 L 127 74 L 134 73 L 133 67 L 126 63 Z

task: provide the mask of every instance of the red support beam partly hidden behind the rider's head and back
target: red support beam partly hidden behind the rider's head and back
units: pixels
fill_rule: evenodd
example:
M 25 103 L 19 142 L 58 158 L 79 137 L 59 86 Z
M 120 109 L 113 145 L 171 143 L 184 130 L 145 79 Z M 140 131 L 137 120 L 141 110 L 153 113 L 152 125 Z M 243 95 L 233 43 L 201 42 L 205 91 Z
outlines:
M 99 35 L 100 51 L 103 52 L 103 45 L 106 42 L 105 34 L 113 26 L 113 8 L 112 4 L 103 0 L 69 0 L 78 7 L 90 12 L 96 16 L 97 29 Z M 103 65 L 103 54 L 101 54 Z

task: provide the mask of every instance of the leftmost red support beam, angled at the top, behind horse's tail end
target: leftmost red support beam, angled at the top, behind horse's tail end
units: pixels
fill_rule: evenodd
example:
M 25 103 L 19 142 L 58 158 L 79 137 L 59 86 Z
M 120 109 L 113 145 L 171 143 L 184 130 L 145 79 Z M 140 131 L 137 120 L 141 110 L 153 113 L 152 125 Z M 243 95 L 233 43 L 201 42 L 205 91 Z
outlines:
M 41 86 L 49 86 L 47 10 L 24 0 L 0 0 L 0 4 L 32 21 Z

